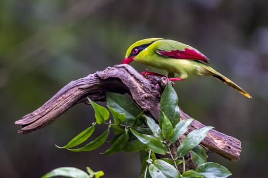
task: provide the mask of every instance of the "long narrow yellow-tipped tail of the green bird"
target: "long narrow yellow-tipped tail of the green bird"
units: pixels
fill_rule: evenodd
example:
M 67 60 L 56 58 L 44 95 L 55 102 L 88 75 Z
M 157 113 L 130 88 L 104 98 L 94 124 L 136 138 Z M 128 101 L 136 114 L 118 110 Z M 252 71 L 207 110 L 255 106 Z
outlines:
M 225 77 L 221 73 L 217 72 L 216 70 L 212 69 L 211 67 L 205 68 L 207 71 L 212 73 L 212 76 L 217 78 L 218 80 L 224 82 L 225 84 L 233 87 L 235 90 L 237 90 L 240 94 L 245 95 L 248 98 L 252 98 L 249 93 L 247 93 L 242 87 L 235 84 L 233 81 L 231 81 L 229 78 Z

